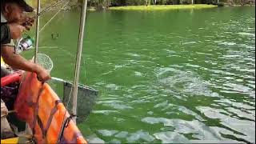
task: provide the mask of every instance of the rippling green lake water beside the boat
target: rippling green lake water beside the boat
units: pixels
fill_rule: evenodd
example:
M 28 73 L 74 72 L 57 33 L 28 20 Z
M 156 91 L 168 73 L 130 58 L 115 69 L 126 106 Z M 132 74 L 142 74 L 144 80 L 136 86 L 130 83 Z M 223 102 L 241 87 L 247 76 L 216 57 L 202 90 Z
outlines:
M 254 10 L 88 13 L 80 83 L 99 98 L 82 134 L 89 142 L 255 142 Z M 73 80 L 79 16 L 63 12 L 41 33 L 54 77 Z

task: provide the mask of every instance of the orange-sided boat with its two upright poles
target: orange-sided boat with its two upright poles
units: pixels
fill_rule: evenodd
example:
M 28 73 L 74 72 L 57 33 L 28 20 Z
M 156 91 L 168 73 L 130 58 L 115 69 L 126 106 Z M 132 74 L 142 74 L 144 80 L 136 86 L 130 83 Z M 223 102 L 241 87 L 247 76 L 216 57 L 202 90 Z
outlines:
M 91 94 L 93 95 L 92 97 L 95 97 L 98 95 L 98 91 L 78 83 L 86 4 L 87 0 L 84 0 L 76 69 L 74 70 L 74 84 L 60 78 L 54 78 L 58 82 L 64 83 L 63 86 L 69 93 L 66 95 L 70 96 L 73 93 L 72 109 L 68 107 L 70 97 L 59 97 L 49 83 L 39 82 L 36 74 L 14 70 L 12 74 L 1 78 L 1 98 L 8 108 L 7 117 L 10 126 L 14 130 L 15 137 L 1 139 L 1 143 L 87 143 L 86 138 L 76 124 L 76 116 L 79 116 L 79 107 L 77 106 L 78 93 L 79 90 L 84 90 L 86 92 L 82 94 L 86 94 L 85 96 Z M 38 0 L 38 6 L 40 7 L 40 0 Z M 38 14 L 40 14 L 40 9 Z M 37 47 L 38 42 L 36 42 L 35 56 L 38 53 Z M 1 66 L 6 67 L 2 58 Z M 88 105 L 93 105 L 93 103 L 89 102 Z M 90 106 L 90 110 L 80 110 L 80 113 L 86 111 L 88 115 L 91 109 L 92 106 Z

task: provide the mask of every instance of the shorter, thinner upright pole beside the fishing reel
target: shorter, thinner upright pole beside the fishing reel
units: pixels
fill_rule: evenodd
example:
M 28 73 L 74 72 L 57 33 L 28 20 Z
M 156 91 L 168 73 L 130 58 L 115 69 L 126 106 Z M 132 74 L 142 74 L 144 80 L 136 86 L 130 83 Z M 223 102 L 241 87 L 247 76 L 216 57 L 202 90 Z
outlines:
M 41 0 L 38 0 L 38 9 L 37 9 L 37 23 L 36 23 L 36 32 L 35 32 L 35 49 L 34 49 L 34 63 L 37 62 L 38 58 L 38 42 L 39 42 L 39 22 L 40 22 L 40 10 L 41 10 Z

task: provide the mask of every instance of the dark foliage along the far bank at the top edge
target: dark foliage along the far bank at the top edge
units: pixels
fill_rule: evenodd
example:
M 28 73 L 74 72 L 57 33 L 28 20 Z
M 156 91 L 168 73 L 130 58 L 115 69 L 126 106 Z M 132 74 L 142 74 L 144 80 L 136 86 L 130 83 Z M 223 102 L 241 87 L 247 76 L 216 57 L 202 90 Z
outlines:
M 34 7 L 37 6 L 37 1 L 35 0 L 26 0 L 26 1 Z M 58 1 L 59 0 L 41 0 L 42 7 L 50 6 L 54 2 L 58 2 Z M 194 2 L 194 4 L 208 4 L 208 5 L 217 5 L 217 6 L 224 6 L 224 4 L 228 4 L 228 5 L 243 6 L 246 3 L 248 3 L 250 0 L 88 0 L 88 6 L 90 10 L 105 10 L 105 9 L 108 9 L 109 7 L 114 7 L 114 6 L 189 5 L 192 3 L 192 1 Z M 71 0 L 72 6 L 70 7 L 81 6 L 82 2 L 83 0 Z M 175 6 L 173 6 L 173 8 L 174 7 Z M 170 7 L 164 8 L 164 9 L 169 9 L 169 8 Z M 186 6 L 184 8 L 186 8 Z M 133 7 L 130 7 L 129 9 L 133 9 Z M 152 9 L 152 7 L 148 9 Z

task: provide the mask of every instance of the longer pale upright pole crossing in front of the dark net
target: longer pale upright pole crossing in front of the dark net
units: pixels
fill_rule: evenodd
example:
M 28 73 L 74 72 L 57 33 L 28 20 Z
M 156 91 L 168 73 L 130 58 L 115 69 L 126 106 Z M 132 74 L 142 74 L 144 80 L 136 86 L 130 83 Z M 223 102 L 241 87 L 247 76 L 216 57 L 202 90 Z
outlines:
M 83 0 L 82 3 L 82 12 L 80 17 L 80 28 L 79 28 L 79 38 L 78 38 L 78 50 L 77 50 L 77 59 L 74 71 L 74 94 L 73 94 L 73 109 L 72 112 L 74 115 L 77 115 L 77 101 L 78 101 L 78 82 L 79 82 L 79 70 L 82 56 L 82 42 L 83 35 L 86 25 L 86 9 L 87 9 L 87 0 Z M 73 118 L 76 123 L 76 117 Z

